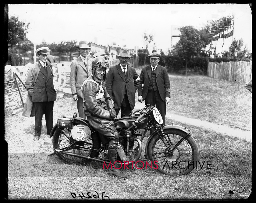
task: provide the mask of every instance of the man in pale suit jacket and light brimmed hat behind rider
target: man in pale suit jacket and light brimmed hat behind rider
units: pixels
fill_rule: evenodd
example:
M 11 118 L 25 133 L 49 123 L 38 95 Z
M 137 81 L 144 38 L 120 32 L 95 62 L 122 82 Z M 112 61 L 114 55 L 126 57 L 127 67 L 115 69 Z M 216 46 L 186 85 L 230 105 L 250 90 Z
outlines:
M 91 63 L 93 59 L 87 56 L 91 48 L 87 43 L 80 42 L 77 48 L 80 52 L 80 56 L 77 59 L 74 59 L 70 65 L 71 94 L 73 96 L 73 100 L 77 102 L 77 110 L 79 116 L 86 118 L 84 114 L 81 86 L 84 83 L 84 80 L 86 80 L 87 77 L 91 75 Z

